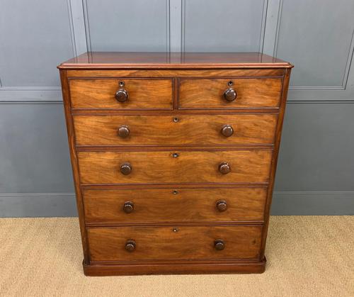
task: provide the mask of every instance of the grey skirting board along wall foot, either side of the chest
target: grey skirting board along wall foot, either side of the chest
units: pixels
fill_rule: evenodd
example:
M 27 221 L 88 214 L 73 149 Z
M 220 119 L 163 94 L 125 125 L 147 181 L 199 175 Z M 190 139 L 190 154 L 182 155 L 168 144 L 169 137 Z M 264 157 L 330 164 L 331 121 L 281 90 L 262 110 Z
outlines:
M 275 191 L 272 215 L 354 215 L 354 191 Z M 0 218 L 76 216 L 74 193 L 0 194 Z

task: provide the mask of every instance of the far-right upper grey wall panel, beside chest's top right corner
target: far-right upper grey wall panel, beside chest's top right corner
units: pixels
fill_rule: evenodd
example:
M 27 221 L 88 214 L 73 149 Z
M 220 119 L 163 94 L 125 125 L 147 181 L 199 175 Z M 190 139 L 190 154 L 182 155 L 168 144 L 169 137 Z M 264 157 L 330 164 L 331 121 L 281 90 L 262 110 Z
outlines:
M 354 1 L 283 0 L 279 13 L 275 55 L 297 65 L 291 86 L 344 89 L 353 52 Z

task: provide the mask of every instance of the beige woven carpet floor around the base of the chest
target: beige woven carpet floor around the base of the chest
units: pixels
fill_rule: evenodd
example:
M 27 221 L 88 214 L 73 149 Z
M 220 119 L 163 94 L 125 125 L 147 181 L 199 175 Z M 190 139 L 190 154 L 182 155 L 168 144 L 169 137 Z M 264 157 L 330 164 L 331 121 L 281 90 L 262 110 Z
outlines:
M 0 219 L 0 296 L 354 296 L 354 216 L 270 219 L 264 274 L 84 276 L 77 218 Z

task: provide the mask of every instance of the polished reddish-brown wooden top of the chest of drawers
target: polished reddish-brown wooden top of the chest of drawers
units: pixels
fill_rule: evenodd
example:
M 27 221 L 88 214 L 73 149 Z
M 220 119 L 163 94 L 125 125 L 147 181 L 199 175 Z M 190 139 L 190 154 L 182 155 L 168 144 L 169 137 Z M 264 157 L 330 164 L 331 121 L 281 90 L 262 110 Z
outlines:
M 260 52 L 86 52 L 59 69 L 291 68 Z

